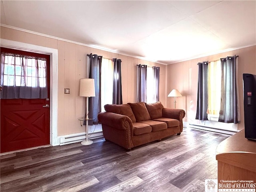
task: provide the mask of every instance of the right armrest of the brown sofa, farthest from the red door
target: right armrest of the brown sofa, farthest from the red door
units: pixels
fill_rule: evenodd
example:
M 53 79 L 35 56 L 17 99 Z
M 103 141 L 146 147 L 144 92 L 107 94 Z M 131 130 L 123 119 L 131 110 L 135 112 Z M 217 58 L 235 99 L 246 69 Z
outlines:
M 183 109 L 163 108 L 163 117 L 172 118 L 180 121 L 180 133 L 183 130 L 183 118 L 185 117 L 185 111 Z

